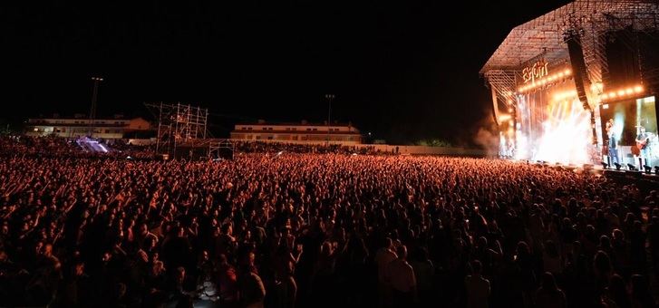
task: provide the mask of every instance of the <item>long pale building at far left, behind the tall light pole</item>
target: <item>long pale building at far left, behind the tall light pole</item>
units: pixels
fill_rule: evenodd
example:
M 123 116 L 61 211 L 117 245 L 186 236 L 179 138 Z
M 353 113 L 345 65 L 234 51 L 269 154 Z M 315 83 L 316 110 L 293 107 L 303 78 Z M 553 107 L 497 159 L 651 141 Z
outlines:
M 51 118 L 28 119 L 25 125 L 25 135 L 77 138 L 88 136 L 92 131 L 92 138 L 116 140 L 128 138 L 129 133 L 150 129 L 150 122 L 142 118 L 124 119 L 120 115 L 115 115 L 113 118 L 96 119 L 92 122 L 81 114 L 73 118 L 60 118 L 53 115 Z

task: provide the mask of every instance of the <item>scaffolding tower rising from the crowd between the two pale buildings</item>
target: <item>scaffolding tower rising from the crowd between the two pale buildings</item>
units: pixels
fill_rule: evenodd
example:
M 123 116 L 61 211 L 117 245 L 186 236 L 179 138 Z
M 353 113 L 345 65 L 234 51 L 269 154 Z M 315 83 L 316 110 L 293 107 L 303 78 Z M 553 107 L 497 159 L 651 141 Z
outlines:
M 158 118 L 156 153 L 174 157 L 179 145 L 205 142 L 208 109 L 181 103 L 144 103 Z

